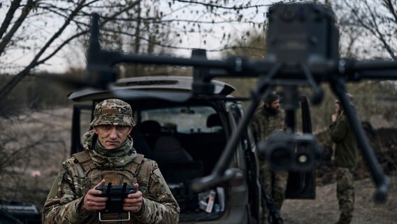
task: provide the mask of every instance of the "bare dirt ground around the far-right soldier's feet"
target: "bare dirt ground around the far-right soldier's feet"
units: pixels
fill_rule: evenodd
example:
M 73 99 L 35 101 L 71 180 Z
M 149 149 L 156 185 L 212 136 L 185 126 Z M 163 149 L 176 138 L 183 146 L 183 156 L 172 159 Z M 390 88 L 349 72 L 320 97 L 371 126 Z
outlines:
M 355 181 L 355 187 L 352 224 L 397 223 L 397 176 L 391 177 L 389 197 L 384 204 L 374 202 L 375 188 L 370 179 Z M 335 183 L 317 187 L 315 200 L 286 200 L 281 215 L 285 224 L 335 223 L 339 218 Z

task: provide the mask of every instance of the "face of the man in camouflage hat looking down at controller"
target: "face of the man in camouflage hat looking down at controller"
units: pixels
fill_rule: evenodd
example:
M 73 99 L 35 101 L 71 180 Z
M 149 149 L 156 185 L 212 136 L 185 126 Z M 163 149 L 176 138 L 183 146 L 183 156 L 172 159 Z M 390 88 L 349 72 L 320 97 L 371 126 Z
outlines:
M 94 132 L 98 134 L 101 145 L 109 150 L 121 146 L 131 130 L 131 126 L 121 125 L 98 125 L 94 127 Z

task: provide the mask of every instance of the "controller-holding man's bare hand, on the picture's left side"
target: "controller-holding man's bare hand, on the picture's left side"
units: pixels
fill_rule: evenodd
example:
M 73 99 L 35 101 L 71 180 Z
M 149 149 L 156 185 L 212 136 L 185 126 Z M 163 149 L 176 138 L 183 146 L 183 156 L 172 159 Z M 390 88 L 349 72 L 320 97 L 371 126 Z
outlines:
M 101 190 L 95 190 L 96 187 L 105 185 L 106 180 L 99 182 L 94 188 L 88 190 L 87 194 L 84 196 L 84 202 L 82 203 L 79 211 L 80 214 L 85 211 L 99 211 L 105 209 L 107 197 L 98 197 L 101 195 Z

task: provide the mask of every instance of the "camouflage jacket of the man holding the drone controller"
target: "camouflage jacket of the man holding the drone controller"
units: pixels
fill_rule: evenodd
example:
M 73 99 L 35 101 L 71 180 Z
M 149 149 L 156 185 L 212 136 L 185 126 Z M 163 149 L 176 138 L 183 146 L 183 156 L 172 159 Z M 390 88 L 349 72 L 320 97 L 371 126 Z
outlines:
M 101 179 L 113 182 L 113 185 L 139 184 L 139 190 L 143 193 L 142 209 L 139 213 L 131 214 L 131 220 L 124 223 L 178 223 L 180 208 L 157 162 L 137 154 L 132 144 L 130 153 L 122 158 L 99 155 L 92 150 L 95 135 L 87 132 L 85 151 L 76 153 L 62 163 L 44 204 L 43 223 L 100 223 L 98 212 L 79 214 L 78 208 L 87 191 Z M 114 218 L 111 214 L 105 215 Z

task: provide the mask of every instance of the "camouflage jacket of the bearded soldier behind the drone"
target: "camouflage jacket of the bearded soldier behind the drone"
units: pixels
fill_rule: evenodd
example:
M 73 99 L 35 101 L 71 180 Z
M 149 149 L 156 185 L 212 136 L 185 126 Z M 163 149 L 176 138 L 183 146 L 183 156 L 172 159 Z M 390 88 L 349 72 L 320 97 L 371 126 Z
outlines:
M 285 112 L 278 109 L 275 115 L 267 113 L 264 106 L 254 114 L 251 121 L 252 132 L 255 141 L 266 141 L 274 131 L 282 131 L 285 128 Z

